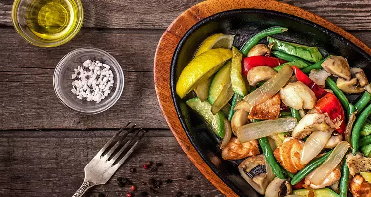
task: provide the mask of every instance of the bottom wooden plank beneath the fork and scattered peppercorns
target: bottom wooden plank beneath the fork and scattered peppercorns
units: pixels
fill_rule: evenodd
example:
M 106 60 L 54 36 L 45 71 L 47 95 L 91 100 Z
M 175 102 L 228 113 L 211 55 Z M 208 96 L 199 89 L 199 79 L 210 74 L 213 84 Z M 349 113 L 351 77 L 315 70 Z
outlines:
M 70 197 L 84 179 L 84 167 L 116 131 L 0 131 L 0 196 L 1 197 Z M 166 151 L 165 151 L 166 150 Z M 143 169 L 147 161 L 161 162 L 158 172 Z M 129 169 L 135 167 L 136 173 Z M 191 175 L 192 180 L 186 180 Z M 112 179 L 88 191 L 84 197 L 122 197 L 130 186 L 117 186 L 117 177 L 127 177 L 137 187 L 133 192 L 148 191 L 152 197 L 201 194 L 223 197 L 189 161 L 170 131 L 149 131 L 132 156 Z M 141 181 L 170 178 L 157 195 Z

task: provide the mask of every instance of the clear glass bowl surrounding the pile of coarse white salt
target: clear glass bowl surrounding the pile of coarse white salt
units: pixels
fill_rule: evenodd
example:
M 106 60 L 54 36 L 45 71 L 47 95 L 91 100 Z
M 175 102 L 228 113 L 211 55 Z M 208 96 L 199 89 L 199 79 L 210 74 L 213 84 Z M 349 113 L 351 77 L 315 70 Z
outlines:
M 77 66 L 83 66 L 86 60 L 99 60 L 109 65 L 114 77 L 111 93 L 101 102 L 80 100 L 71 92 L 71 75 Z M 71 51 L 60 60 L 54 72 L 54 90 L 59 100 L 68 108 L 82 114 L 97 114 L 112 107 L 120 98 L 124 89 L 124 73 L 117 60 L 111 54 L 96 48 L 80 48 Z

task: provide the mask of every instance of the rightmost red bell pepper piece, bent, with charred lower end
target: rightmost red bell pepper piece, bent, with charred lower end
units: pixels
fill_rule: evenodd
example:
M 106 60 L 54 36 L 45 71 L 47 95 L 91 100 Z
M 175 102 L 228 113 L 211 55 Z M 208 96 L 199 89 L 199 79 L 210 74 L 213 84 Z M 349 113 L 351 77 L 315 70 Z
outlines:
M 344 135 L 346 128 L 344 109 L 337 97 L 327 92 L 327 94 L 319 99 L 315 106 L 316 110 L 322 114 L 327 113 L 335 124 L 337 132 Z

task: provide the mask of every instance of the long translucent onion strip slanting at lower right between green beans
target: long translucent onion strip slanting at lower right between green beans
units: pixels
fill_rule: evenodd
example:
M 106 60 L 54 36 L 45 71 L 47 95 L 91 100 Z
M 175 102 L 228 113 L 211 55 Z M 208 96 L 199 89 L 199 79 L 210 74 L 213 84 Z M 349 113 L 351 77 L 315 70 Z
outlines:
M 345 154 L 348 152 L 350 144 L 346 141 L 340 142 L 335 149 L 332 151 L 327 160 L 320 165 L 313 172 L 313 176 L 310 182 L 319 185 L 325 178 L 340 164 L 341 160 L 344 158 Z

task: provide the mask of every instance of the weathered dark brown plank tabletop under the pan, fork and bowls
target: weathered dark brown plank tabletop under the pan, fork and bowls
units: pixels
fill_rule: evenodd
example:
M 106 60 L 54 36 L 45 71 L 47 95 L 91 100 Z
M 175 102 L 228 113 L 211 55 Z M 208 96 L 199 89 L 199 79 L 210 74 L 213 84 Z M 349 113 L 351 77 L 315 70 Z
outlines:
M 128 177 L 136 196 L 148 191 L 141 181 L 172 179 L 158 194 L 222 195 L 182 152 L 160 112 L 153 83 L 153 56 L 171 21 L 201 0 L 82 0 L 84 27 L 69 43 L 38 48 L 13 29 L 13 0 L 0 0 L 0 196 L 70 197 L 84 178 L 84 166 L 105 142 L 132 120 L 150 132 L 139 148 L 104 186 L 84 197 L 123 197 L 116 178 Z M 283 0 L 314 12 L 371 46 L 371 0 Z M 125 88 L 108 111 L 82 115 L 56 97 L 52 77 L 58 61 L 80 47 L 111 53 L 125 74 Z M 175 115 L 175 114 L 174 114 Z M 161 162 L 158 172 L 144 170 L 146 161 Z M 130 173 L 131 167 L 137 168 Z M 186 180 L 191 175 L 192 180 Z

